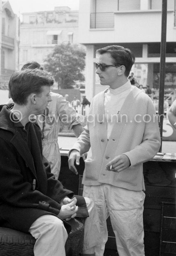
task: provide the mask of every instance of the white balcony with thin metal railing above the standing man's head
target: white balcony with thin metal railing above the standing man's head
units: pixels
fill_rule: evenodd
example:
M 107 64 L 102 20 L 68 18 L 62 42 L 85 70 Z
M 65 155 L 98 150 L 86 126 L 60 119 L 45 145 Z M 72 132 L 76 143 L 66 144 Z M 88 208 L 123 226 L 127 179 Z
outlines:
M 129 29 L 135 28 L 135 29 Z M 167 11 L 167 42 L 176 41 L 174 11 Z M 161 10 L 130 10 L 114 13 L 80 13 L 79 43 L 161 42 Z

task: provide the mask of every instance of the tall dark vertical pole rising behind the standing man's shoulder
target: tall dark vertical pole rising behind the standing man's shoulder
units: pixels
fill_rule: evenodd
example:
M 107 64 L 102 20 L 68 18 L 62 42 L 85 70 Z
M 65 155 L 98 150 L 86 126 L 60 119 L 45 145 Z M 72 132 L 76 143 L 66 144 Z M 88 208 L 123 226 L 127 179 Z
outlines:
M 158 121 L 159 121 L 159 130 L 160 130 L 160 136 L 161 136 L 161 146 L 160 146 L 159 152 L 162 151 L 162 138 L 163 138 L 166 25 L 167 25 L 167 0 L 162 0 L 159 105 L 158 105 Z

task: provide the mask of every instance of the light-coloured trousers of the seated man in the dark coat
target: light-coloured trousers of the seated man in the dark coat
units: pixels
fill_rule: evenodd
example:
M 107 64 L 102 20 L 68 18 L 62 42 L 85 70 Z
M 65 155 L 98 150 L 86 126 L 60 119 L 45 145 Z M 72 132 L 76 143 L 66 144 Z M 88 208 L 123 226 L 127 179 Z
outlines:
M 98 212 L 92 199 L 85 197 L 89 217 L 84 222 L 83 251 L 102 243 Z M 29 233 L 36 239 L 35 256 L 65 256 L 68 238 L 62 220 L 53 215 L 40 216 L 30 226 Z

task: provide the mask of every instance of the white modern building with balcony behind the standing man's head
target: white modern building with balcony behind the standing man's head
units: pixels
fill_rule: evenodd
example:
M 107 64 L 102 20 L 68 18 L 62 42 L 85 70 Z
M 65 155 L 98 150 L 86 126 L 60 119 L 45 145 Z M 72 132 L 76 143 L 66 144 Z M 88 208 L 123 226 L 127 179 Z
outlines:
M 175 0 L 167 1 L 167 45 L 165 86 L 176 87 Z M 130 48 L 136 57 L 132 68 L 138 82 L 159 86 L 162 0 L 81 0 L 79 43 L 87 48 L 85 94 L 104 90 L 97 75 L 96 50 L 108 45 Z M 141 75 L 143 74 L 143 75 Z M 169 80 L 169 81 L 168 81 Z

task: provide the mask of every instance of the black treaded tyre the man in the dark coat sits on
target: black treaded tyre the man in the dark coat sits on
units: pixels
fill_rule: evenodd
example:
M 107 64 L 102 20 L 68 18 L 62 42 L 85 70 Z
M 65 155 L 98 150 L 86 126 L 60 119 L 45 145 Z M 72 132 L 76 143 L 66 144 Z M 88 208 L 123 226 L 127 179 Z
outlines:
M 78 256 L 84 240 L 84 224 L 76 219 L 68 221 L 72 230 L 65 244 L 66 256 Z M 36 239 L 27 233 L 0 227 L 0 256 L 34 256 Z

